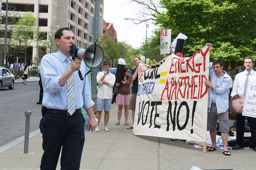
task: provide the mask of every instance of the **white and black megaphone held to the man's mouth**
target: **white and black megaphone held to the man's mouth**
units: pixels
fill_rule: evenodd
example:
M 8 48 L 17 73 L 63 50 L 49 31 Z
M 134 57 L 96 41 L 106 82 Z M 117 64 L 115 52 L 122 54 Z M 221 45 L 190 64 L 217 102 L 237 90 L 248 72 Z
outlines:
M 97 68 L 104 58 L 102 47 L 96 43 L 89 45 L 86 49 L 79 48 L 73 44 L 69 53 L 72 56 L 72 60 L 75 57 L 83 59 L 84 63 L 90 68 Z

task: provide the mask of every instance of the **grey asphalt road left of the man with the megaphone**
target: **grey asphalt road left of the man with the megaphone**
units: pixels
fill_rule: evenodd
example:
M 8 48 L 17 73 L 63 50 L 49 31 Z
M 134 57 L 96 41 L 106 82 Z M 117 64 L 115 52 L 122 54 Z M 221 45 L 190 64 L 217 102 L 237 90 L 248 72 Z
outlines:
M 31 110 L 30 132 L 38 129 L 41 119 L 37 83 L 15 84 L 13 90 L 0 91 L 0 147 L 25 134 L 25 111 Z

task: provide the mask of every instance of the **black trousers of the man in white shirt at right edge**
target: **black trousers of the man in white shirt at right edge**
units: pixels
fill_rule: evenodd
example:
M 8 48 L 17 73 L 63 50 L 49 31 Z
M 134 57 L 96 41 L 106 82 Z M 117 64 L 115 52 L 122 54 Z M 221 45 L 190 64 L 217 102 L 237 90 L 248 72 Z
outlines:
M 236 114 L 237 117 L 237 143 L 240 147 L 244 147 L 244 125 L 245 125 L 245 116 L 242 114 Z M 251 148 L 256 147 L 256 118 L 248 117 L 247 120 L 251 130 Z

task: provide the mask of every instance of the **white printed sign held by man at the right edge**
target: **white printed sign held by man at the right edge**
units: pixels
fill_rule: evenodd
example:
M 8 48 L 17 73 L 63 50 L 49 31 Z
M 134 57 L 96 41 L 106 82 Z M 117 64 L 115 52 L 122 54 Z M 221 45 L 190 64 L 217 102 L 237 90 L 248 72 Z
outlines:
M 242 115 L 256 117 L 256 82 L 250 82 L 247 86 Z

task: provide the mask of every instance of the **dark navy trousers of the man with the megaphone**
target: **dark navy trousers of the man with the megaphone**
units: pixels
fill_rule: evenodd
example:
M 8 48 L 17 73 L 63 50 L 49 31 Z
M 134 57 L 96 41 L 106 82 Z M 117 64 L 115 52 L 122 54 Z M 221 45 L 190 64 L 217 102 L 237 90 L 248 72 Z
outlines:
M 61 147 L 61 169 L 80 168 L 85 140 L 83 124 L 82 114 L 68 116 L 46 112 L 39 125 L 44 150 L 40 169 L 56 169 Z

